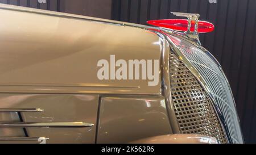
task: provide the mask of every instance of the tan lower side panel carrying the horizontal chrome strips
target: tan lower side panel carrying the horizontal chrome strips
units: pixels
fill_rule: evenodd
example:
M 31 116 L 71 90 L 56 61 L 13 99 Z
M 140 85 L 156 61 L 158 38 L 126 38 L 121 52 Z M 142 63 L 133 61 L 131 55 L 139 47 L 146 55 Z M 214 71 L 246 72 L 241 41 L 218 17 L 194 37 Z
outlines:
M 95 142 L 98 95 L 0 94 L 0 103 L 0 108 L 37 107 L 44 110 L 21 112 L 23 122 L 88 122 L 95 124 L 93 127 L 81 128 L 26 128 L 29 137 L 47 137 L 49 138 L 47 143 Z

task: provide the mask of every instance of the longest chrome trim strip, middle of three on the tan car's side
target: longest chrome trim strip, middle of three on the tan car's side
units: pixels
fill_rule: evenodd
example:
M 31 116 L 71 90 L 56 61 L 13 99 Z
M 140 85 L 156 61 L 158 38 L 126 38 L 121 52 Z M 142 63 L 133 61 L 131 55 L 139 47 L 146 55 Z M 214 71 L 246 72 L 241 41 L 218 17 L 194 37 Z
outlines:
M 92 127 L 94 124 L 85 122 L 11 122 L 0 123 L 0 127 L 46 127 L 46 128 L 69 128 L 69 127 Z

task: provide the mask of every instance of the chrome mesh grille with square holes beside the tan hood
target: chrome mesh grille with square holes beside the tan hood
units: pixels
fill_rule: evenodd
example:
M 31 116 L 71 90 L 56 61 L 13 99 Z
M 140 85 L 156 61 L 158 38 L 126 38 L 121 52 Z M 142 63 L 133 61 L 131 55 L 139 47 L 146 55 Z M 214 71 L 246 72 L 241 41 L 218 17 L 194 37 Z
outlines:
M 170 52 L 171 94 L 181 133 L 216 137 L 226 143 L 220 121 L 208 95 L 174 53 Z

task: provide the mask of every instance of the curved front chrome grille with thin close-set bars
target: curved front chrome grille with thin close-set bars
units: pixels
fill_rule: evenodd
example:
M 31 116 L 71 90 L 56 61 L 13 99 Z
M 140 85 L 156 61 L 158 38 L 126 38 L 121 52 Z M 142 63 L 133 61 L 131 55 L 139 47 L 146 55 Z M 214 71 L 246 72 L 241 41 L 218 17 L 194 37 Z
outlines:
M 207 83 L 214 103 L 217 104 L 224 116 L 232 143 L 243 143 L 232 91 L 219 66 L 207 52 L 177 37 L 172 36 L 171 38 Z

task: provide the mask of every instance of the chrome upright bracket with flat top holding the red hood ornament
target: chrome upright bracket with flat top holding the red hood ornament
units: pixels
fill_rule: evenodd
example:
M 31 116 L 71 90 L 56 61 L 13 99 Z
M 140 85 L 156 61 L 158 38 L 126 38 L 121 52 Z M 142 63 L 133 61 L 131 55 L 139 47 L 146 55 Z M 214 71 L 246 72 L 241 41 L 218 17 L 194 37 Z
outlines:
M 184 34 L 187 36 L 189 40 L 194 41 L 195 43 L 199 44 L 201 46 L 200 40 L 199 40 L 199 32 L 198 32 L 198 22 L 199 22 L 199 14 L 189 14 L 189 13 L 183 13 L 183 12 L 171 12 L 172 14 L 176 16 L 184 16 L 188 18 L 188 30 L 184 32 Z M 195 31 L 191 31 L 191 23 L 195 22 Z

